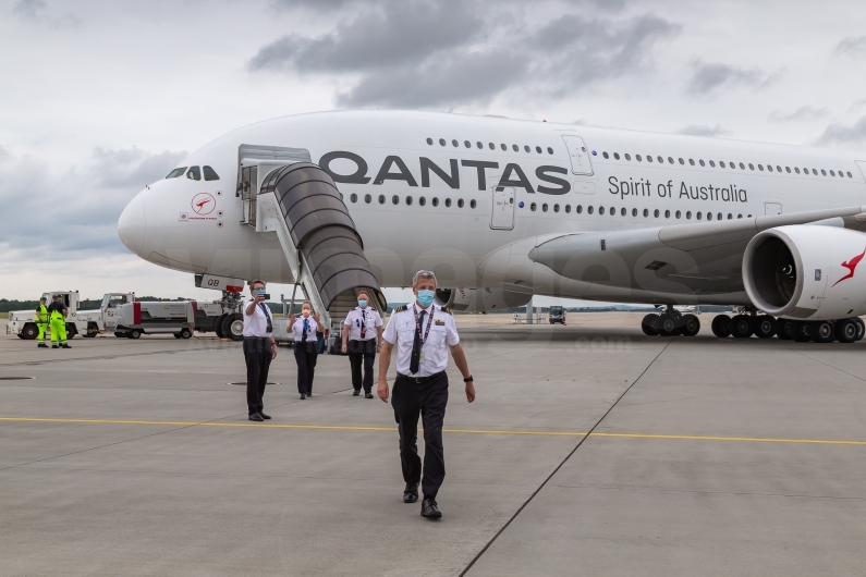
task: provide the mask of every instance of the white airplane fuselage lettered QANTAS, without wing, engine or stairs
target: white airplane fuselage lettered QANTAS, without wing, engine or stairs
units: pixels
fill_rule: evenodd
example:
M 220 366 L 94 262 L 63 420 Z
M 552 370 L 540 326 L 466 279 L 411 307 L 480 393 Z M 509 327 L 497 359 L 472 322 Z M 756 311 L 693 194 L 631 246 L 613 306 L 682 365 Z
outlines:
M 581 142 L 585 157 L 570 158 Z M 241 145 L 303 148 L 330 171 L 382 286 L 410 285 L 420 268 L 437 270 L 440 286 L 479 286 L 487 256 L 533 237 L 866 204 L 856 163 L 866 155 L 488 116 L 346 111 L 265 121 L 205 145 L 180 165 L 211 167 L 219 180 L 181 176 L 142 191 L 119 222 L 124 244 L 176 270 L 292 282 L 276 233 L 240 224 Z M 502 191 L 514 195 L 511 223 L 501 205 L 495 213 Z M 196 207 L 194 197 L 207 195 L 212 202 Z

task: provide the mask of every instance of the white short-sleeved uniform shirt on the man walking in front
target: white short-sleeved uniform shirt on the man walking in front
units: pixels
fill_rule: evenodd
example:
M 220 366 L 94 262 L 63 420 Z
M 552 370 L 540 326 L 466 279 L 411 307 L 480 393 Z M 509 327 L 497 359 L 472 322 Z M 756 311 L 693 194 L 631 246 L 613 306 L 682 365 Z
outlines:
M 420 347 L 422 364 L 418 367 L 418 372 L 413 375 L 410 372 L 408 366 L 412 361 L 412 344 L 415 342 L 416 308 L 418 315 L 420 315 L 422 310 L 427 310 L 428 312 L 428 315 L 424 316 L 424 327 L 420 330 L 422 339 L 424 339 L 424 333 L 427 331 L 427 322 L 429 322 L 429 312 L 431 310 L 434 311 L 434 323 L 430 327 L 427 341 Z M 392 345 L 397 345 L 397 372 L 408 377 L 429 377 L 446 370 L 448 366 L 448 347 L 454 346 L 460 342 L 454 317 L 436 305 L 422 309 L 417 303 L 413 303 L 405 310 L 391 314 L 382 339 Z

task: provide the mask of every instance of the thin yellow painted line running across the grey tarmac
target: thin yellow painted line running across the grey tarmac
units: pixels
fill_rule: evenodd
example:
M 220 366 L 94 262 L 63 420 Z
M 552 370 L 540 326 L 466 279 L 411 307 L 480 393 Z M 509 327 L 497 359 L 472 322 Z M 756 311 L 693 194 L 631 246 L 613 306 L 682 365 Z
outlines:
M 90 423 L 90 425 L 150 425 L 171 427 L 249 427 L 255 429 L 312 429 L 337 431 L 390 431 L 395 432 L 397 427 L 373 427 L 352 425 L 283 425 L 260 422 L 198 422 L 172 420 L 122 420 L 122 419 L 60 419 L 39 417 L 0 417 L 5 422 L 58 422 L 58 423 Z M 586 432 L 578 431 L 530 431 L 530 430 L 496 430 L 496 429 L 443 429 L 448 433 L 465 434 L 512 434 L 536 437 L 585 437 Z M 771 437 L 715 437 L 703 434 L 650 434 L 627 432 L 594 432 L 589 437 L 608 437 L 620 439 L 661 439 L 684 441 L 727 441 L 751 443 L 792 443 L 792 444 L 825 444 L 825 445 L 854 445 L 866 446 L 866 441 L 844 441 L 833 439 L 777 439 Z

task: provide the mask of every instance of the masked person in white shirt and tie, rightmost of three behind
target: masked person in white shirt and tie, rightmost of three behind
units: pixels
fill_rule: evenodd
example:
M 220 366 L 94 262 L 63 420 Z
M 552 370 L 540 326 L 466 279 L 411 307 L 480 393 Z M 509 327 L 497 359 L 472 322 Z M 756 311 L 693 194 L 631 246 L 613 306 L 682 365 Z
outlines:
M 357 308 L 349 311 L 343 323 L 343 354 L 349 353 L 352 365 L 353 396 L 361 394 L 362 383 L 364 396 L 373 398 L 373 363 L 376 353 L 382 346 L 382 318 L 367 307 L 367 293 L 358 293 Z M 364 366 L 364 377 L 361 367 Z

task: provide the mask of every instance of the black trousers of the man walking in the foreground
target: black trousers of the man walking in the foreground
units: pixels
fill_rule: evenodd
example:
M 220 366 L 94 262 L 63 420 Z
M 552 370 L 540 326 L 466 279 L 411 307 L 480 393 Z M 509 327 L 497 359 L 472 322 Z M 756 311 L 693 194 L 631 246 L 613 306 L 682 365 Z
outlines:
M 400 462 L 403 480 L 422 481 L 424 498 L 436 499 L 446 478 L 446 456 L 442 447 L 442 422 L 448 405 L 448 376 L 444 371 L 424 382 L 398 376 L 391 394 L 394 420 L 400 430 Z M 424 479 L 418 456 L 418 415 L 424 425 Z

